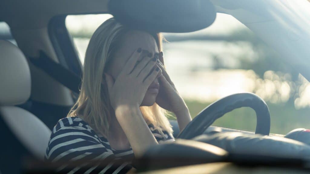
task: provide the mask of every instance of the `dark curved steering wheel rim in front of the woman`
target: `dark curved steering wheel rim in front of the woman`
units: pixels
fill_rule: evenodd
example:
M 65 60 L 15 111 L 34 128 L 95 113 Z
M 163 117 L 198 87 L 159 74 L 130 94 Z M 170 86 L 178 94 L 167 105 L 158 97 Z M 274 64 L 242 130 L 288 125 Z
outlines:
M 257 119 L 255 134 L 269 135 L 270 113 L 267 104 L 253 93 L 239 93 L 210 104 L 183 129 L 177 138 L 191 139 L 201 135 L 216 119 L 240 107 L 250 107 L 255 111 Z

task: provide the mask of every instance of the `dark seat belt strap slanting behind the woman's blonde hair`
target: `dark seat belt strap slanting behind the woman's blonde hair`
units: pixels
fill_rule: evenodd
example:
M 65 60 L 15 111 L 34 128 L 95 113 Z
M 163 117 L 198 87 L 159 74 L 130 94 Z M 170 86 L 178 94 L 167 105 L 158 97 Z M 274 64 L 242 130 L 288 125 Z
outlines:
M 80 93 L 79 86 L 82 82 L 81 78 L 60 63 L 53 61 L 42 50 L 40 50 L 39 57 L 29 57 L 29 60 L 35 67 L 46 72 L 60 84 L 77 94 Z

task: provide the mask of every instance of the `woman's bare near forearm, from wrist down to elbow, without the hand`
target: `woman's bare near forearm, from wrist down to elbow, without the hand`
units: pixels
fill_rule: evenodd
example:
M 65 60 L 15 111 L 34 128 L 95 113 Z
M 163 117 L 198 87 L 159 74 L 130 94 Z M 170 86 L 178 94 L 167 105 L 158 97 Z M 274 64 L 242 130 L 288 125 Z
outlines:
M 136 157 L 141 156 L 148 147 L 158 144 L 148 128 L 138 105 L 119 106 L 115 110 L 115 115 Z

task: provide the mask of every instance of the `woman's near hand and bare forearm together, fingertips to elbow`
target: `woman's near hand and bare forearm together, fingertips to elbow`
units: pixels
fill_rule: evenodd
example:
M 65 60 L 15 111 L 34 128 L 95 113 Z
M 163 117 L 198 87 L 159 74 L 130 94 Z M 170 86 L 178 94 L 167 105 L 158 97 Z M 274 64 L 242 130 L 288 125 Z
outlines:
M 110 102 L 136 157 L 142 156 L 150 146 L 158 144 L 146 124 L 139 106 L 151 83 L 161 73 L 156 58 L 145 57 L 137 65 L 142 49 L 139 48 L 126 62 L 115 82 L 105 74 Z M 155 66 L 155 68 L 154 68 Z

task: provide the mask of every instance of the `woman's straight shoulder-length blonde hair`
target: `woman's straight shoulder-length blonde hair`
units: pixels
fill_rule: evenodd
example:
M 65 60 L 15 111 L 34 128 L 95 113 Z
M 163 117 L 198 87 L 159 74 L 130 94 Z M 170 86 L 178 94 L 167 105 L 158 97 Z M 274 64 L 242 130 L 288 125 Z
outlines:
M 86 121 L 96 132 L 108 137 L 109 121 L 113 111 L 103 73 L 106 65 L 120 47 L 122 37 L 129 31 L 114 18 L 106 20 L 92 35 L 87 46 L 81 91 L 77 102 L 71 108 L 68 117 L 78 116 Z M 162 50 L 161 34 L 151 34 L 155 38 L 158 50 Z M 162 133 L 172 133 L 166 118 L 166 110 L 156 103 L 150 107 L 140 107 L 144 120 L 153 124 Z

